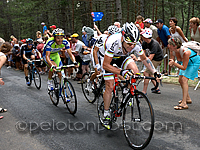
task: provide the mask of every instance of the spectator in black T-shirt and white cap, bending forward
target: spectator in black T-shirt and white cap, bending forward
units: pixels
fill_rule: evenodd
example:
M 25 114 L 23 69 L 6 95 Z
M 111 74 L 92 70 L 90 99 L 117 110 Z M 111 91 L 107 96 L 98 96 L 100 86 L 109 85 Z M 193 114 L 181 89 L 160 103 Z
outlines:
M 149 50 L 149 55 L 147 56 L 151 62 L 153 63 L 154 67 L 158 67 L 162 60 L 163 60 L 163 51 L 161 46 L 159 45 L 159 43 L 152 38 L 152 30 L 151 29 L 145 29 L 143 30 L 140 35 L 142 36 L 143 39 L 143 43 L 142 43 L 142 48 L 143 50 Z M 151 76 L 153 77 L 154 75 L 151 73 L 150 70 L 146 69 L 144 71 L 144 75 L 145 76 Z M 154 86 L 156 85 L 155 81 L 152 81 L 152 83 L 154 84 Z M 149 80 L 145 79 L 144 80 L 144 87 L 142 92 L 147 95 L 147 87 L 149 84 Z M 157 94 L 161 94 L 160 89 L 152 89 L 152 93 L 157 93 Z M 142 97 L 141 95 L 139 97 Z

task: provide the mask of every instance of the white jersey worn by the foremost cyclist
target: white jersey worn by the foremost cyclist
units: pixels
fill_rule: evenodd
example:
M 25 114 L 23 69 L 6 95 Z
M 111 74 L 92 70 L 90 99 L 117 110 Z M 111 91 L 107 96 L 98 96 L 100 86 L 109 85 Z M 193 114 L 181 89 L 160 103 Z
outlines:
M 135 47 L 131 50 L 131 52 L 129 52 L 128 54 L 124 54 L 122 50 L 121 39 L 122 39 L 121 33 L 116 33 L 109 36 L 105 43 L 106 47 L 105 55 L 114 58 L 119 56 L 128 56 L 134 51 L 136 51 L 138 55 L 142 55 L 144 53 L 142 45 L 140 44 L 140 42 L 137 42 Z

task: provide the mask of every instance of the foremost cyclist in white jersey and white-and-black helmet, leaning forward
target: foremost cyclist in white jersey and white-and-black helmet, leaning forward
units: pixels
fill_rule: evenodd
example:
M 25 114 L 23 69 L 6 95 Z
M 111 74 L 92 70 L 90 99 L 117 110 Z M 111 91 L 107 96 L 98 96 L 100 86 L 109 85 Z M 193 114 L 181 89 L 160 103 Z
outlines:
M 131 69 L 134 73 L 139 70 L 131 57 L 131 53 L 136 51 L 140 56 L 143 64 L 157 77 L 156 70 L 152 62 L 145 56 L 139 40 L 139 30 L 131 22 L 123 25 L 121 33 L 111 35 L 106 43 L 106 51 L 103 61 L 103 69 L 106 70 L 104 74 L 105 79 L 105 92 L 104 99 L 104 127 L 110 129 L 110 101 L 112 97 L 112 90 L 114 85 L 114 74 L 122 75 L 125 79 L 129 78 L 132 73 L 128 70 Z M 129 57 L 127 57 L 129 56 Z M 114 67 L 112 64 L 121 66 L 122 69 Z

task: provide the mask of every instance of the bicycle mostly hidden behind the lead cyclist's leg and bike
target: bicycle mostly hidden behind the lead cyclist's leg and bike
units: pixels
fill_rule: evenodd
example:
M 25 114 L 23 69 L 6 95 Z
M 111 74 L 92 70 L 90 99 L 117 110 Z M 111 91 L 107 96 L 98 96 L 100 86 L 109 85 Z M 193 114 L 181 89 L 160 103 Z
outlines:
M 91 73 L 84 73 L 81 79 L 81 88 L 83 91 L 83 95 L 85 96 L 86 100 L 89 103 L 94 103 L 97 98 L 102 97 L 105 89 L 105 81 L 103 79 L 103 75 L 97 75 L 97 77 L 94 79 L 94 82 L 92 85 L 89 83 L 91 75 L 94 73 L 92 71 Z

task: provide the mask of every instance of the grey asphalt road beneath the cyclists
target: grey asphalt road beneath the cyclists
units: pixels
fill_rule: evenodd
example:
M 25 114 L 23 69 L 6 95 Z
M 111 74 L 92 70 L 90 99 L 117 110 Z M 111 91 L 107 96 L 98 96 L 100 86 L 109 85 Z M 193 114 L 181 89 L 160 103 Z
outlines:
M 80 84 L 72 81 L 78 98 L 75 116 L 69 114 L 63 102 L 55 107 L 47 94 L 47 75 L 42 76 L 42 88 L 25 84 L 24 74 L 2 68 L 5 81 L 0 86 L 0 107 L 7 108 L 0 120 L 0 150 L 128 150 L 123 130 L 108 131 L 101 127 L 96 102 L 89 104 Z M 155 113 L 155 130 L 147 150 L 200 149 L 199 92 L 189 88 L 193 100 L 188 110 L 174 110 L 182 97 L 178 85 L 163 84 L 161 94 L 148 97 Z M 139 89 L 142 88 L 140 84 Z M 118 118 L 121 120 L 122 118 Z

